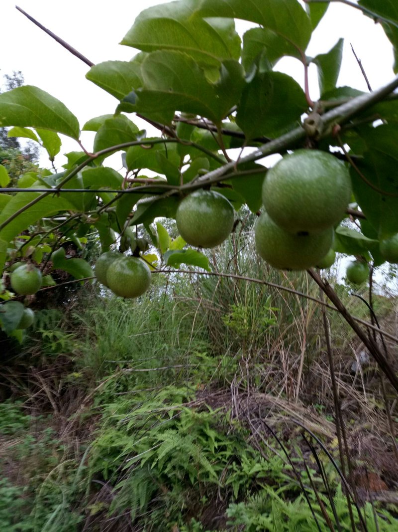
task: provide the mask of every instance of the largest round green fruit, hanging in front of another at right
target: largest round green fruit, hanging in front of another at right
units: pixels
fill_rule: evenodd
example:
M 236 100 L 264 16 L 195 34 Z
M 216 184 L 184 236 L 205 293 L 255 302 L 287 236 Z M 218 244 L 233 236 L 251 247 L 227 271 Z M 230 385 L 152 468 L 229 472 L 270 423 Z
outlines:
M 340 222 L 351 197 L 344 163 L 315 149 L 285 155 L 266 174 L 263 203 L 284 230 L 323 231 Z

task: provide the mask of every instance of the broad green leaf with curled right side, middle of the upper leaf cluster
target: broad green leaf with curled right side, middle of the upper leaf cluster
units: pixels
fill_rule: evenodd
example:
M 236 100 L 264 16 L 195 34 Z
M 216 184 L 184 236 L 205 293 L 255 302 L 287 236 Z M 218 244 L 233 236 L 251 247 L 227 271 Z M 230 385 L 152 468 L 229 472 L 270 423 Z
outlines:
M 192 57 L 180 52 L 153 52 L 146 56 L 141 70 L 144 85 L 136 92 L 136 109 L 162 123 L 170 123 L 175 111 L 199 114 L 219 123 L 243 87 L 243 72 L 237 63 L 226 63 L 221 80 L 214 85 Z M 237 78 L 236 88 L 230 84 L 228 94 L 223 76 L 230 79 L 231 71 Z

